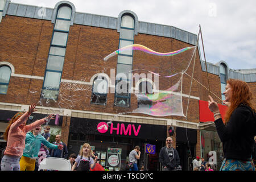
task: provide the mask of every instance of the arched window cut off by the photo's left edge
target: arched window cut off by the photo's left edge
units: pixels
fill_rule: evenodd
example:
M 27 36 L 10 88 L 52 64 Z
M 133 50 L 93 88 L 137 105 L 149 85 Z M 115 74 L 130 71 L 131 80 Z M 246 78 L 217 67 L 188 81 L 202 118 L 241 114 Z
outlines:
M 11 68 L 7 66 L 0 67 L 0 94 L 7 94 L 10 77 Z

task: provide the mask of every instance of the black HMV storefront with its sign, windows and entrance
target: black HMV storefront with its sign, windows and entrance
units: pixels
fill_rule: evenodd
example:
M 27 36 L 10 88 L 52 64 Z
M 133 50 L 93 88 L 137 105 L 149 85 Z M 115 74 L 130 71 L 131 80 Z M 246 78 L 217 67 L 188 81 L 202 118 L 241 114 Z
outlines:
M 71 118 L 68 153 L 79 154 L 82 144 L 89 143 L 95 149 L 100 164 L 109 170 L 127 170 L 129 153 L 135 146 L 141 147 L 138 167 L 159 170 L 159 151 L 165 144 L 167 126 L 131 122 L 109 122 L 97 119 Z M 146 154 L 146 144 L 155 145 L 154 154 Z

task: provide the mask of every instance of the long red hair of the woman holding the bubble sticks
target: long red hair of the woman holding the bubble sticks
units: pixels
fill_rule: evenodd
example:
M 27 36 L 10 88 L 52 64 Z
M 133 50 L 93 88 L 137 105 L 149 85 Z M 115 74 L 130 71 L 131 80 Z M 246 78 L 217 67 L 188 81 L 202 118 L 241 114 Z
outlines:
M 253 100 L 253 94 L 246 82 L 236 79 L 230 79 L 227 81 L 232 89 L 232 97 L 230 99 L 231 105 L 228 107 L 225 115 L 225 125 L 228 123 L 233 111 L 240 105 L 244 104 L 250 106 L 254 110 L 251 100 Z M 254 110 L 255 111 L 255 110 Z

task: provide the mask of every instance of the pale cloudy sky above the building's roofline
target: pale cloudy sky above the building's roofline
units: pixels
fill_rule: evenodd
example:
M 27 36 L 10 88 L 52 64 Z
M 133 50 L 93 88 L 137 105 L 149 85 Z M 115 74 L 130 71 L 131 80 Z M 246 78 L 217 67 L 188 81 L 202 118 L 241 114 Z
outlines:
M 53 8 L 60 0 L 11 0 Z M 255 0 L 69 0 L 77 12 L 118 17 L 123 10 L 139 21 L 166 24 L 198 34 L 204 40 L 206 60 L 224 60 L 231 69 L 256 68 Z M 201 41 L 201 40 L 200 40 Z M 201 43 L 200 43 L 201 44 Z M 203 48 L 201 48 L 203 59 Z

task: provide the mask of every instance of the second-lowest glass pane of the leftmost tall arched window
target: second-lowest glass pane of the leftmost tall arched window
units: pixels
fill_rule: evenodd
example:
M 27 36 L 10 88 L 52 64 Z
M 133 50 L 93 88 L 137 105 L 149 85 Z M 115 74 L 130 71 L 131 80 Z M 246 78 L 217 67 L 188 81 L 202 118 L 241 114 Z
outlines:
M 50 87 L 52 89 L 59 89 L 61 73 L 59 72 L 46 72 L 46 78 L 44 80 L 44 87 Z

